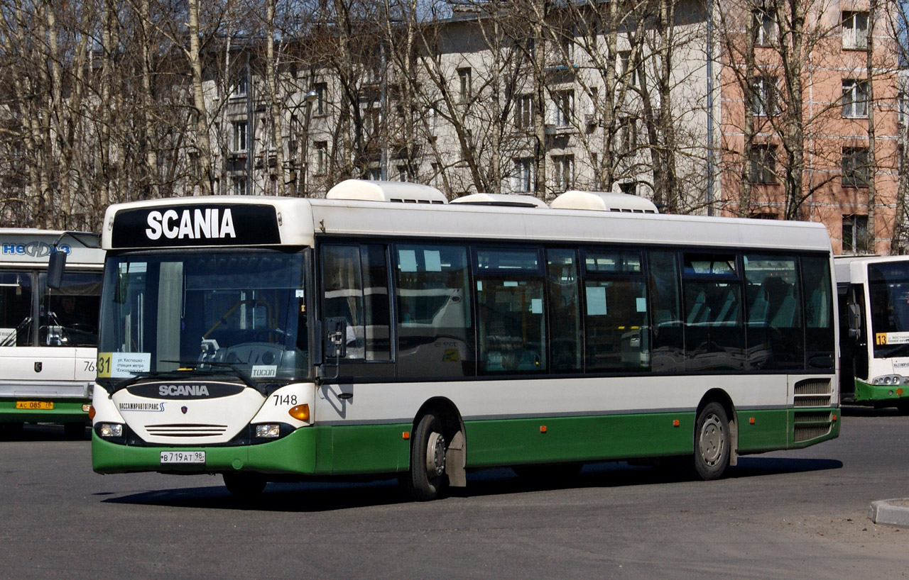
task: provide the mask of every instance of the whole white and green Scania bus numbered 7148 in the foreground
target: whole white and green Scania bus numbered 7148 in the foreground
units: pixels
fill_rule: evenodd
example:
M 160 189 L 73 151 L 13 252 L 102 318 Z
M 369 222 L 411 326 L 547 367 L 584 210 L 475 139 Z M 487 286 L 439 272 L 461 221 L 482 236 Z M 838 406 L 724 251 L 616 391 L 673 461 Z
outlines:
M 818 224 L 351 180 L 118 204 L 103 247 L 98 473 L 397 474 L 432 499 L 484 467 L 712 479 L 839 434 Z

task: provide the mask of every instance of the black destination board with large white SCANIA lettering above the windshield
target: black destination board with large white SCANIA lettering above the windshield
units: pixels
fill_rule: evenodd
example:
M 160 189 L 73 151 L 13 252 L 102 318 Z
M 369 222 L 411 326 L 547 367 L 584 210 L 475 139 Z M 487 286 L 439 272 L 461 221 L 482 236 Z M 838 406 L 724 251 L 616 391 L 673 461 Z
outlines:
M 112 245 L 158 248 L 280 242 L 275 208 L 206 203 L 120 211 L 114 219 Z

